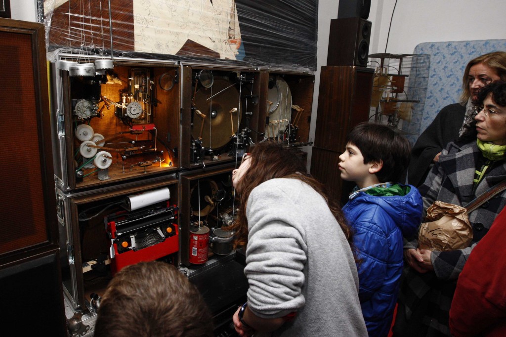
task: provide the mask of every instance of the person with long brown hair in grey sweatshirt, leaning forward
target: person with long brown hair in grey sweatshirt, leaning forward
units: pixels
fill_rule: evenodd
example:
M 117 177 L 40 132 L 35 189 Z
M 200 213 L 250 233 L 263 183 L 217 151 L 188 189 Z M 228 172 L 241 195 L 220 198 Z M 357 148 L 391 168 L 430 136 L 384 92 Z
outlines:
M 247 302 L 233 316 L 241 335 L 366 336 L 352 233 L 341 209 L 296 153 L 273 142 L 251 147 L 232 183 L 231 226 L 245 246 Z

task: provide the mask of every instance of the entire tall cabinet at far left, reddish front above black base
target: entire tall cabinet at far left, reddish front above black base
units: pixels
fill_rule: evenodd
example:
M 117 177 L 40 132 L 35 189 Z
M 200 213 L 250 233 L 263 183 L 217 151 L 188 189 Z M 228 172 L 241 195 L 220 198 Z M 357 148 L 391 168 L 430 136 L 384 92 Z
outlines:
M 0 310 L 64 335 L 44 25 L 0 19 Z M 31 309 L 31 310 L 30 310 Z M 35 309 L 35 312 L 33 311 Z M 31 311 L 32 314 L 28 314 Z

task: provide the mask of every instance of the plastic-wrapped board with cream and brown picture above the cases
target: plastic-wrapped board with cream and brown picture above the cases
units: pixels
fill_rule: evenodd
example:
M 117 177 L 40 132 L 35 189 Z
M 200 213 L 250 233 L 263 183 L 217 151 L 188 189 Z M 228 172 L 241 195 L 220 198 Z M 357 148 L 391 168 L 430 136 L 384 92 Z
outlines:
M 49 59 L 112 51 L 113 58 L 316 70 L 317 0 L 45 0 L 40 10 Z

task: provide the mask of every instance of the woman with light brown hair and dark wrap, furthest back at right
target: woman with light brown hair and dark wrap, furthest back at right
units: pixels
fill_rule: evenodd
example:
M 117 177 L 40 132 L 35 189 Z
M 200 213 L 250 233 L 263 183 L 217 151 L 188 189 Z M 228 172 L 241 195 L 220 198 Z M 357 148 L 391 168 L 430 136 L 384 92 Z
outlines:
M 468 63 L 462 77 L 460 102 L 441 109 L 411 150 L 410 185 L 418 187 L 424 183 L 441 150 L 463 133 L 463 124 L 476 106 L 478 91 L 496 80 L 506 80 L 506 52 L 485 54 Z

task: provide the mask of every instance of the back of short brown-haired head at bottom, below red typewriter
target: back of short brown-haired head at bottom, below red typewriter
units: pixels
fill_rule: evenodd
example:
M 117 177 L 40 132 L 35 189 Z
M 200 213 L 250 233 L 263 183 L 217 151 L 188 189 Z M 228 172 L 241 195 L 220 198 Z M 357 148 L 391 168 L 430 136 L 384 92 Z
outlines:
M 214 336 L 213 317 L 196 286 L 160 261 L 121 269 L 102 297 L 95 336 Z

